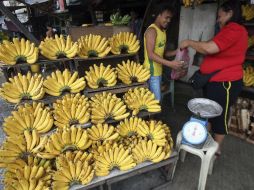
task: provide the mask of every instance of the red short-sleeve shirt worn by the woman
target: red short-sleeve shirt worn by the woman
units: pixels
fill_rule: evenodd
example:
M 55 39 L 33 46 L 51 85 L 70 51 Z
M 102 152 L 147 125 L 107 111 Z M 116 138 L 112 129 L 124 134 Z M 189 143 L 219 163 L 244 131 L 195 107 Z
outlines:
M 200 66 L 203 74 L 220 70 L 211 82 L 235 81 L 243 77 L 242 64 L 248 48 L 246 29 L 234 22 L 227 24 L 212 39 L 219 47 L 219 53 L 207 55 Z

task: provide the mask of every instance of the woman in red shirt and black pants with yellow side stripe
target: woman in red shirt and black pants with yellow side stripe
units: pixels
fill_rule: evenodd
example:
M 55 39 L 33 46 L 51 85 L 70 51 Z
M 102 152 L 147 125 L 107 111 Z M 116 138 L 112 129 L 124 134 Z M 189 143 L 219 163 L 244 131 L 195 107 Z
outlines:
M 204 89 L 206 98 L 218 102 L 223 107 L 221 116 L 209 120 L 215 141 L 220 145 L 217 155 L 221 153 L 221 144 L 228 133 L 229 108 L 236 102 L 242 89 L 242 65 L 248 47 L 248 33 L 239 24 L 240 18 L 239 3 L 227 1 L 218 11 L 217 22 L 220 31 L 211 41 L 184 40 L 180 43 L 180 48 L 191 47 L 206 55 L 200 66 L 201 73 L 219 71 Z

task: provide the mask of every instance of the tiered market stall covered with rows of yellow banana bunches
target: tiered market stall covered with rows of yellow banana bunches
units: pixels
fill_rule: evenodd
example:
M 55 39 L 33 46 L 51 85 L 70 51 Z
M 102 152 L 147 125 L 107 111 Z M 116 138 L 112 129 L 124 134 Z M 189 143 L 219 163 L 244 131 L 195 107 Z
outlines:
M 137 62 L 138 50 L 129 32 L 110 39 L 89 34 L 77 42 L 56 35 L 38 47 L 4 41 L 0 162 L 6 189 L 110 189 L 176 162 L 170 128 L 150 119 L 161 107 L 147 88 L 150 73 Z

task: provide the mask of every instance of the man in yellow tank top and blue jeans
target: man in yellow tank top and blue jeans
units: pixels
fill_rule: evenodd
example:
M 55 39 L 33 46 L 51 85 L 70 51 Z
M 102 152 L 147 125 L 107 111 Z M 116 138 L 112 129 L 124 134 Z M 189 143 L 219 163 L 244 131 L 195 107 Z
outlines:
M 162 65 L 173 69 L 180 69 L 183 64 L 180 61 L 168 61 L 164 59 L 166 46 L 166 28 L 172 17 L 170 7 L 161 5 L 156 9 L 155 21 L 144 35 L 144 66 L 150 69 L 149 88 L 155 94 L 157 100 L 161 100 L 161 75 Z M 174 56 L 175 51 L 167 52 L 167 56 Z

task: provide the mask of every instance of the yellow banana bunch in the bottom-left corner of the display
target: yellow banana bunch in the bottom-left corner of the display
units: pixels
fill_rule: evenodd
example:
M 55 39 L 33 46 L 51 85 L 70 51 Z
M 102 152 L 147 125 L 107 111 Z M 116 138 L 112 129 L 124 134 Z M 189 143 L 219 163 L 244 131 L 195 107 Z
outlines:
M 5 189 L 49 189 L 51 172 L 51 163 L 48 160 L 32 156 L 28 156 L 27 162 L 18 159 L 6 167 Z

